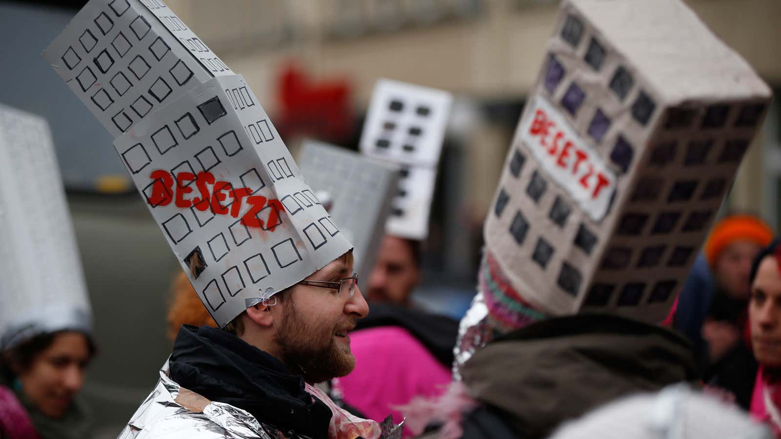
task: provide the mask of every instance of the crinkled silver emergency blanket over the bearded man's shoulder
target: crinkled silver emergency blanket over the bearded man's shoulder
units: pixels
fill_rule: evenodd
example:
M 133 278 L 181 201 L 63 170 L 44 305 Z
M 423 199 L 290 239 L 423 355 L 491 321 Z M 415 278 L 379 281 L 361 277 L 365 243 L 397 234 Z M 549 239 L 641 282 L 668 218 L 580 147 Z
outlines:
M 283 433 L 259 423 L 242 409 L 211 402 L 175 383 L 168 362 L 160 380 L 128 421 L 117 439 L 307 439 L 294 432 Z

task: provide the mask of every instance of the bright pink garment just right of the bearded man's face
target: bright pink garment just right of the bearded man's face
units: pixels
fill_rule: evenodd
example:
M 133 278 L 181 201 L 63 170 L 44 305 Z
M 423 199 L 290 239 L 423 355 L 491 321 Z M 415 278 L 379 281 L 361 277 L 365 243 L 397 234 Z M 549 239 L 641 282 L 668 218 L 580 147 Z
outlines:
M 450 369 L 401 327 L 357 330 L 350 339 L 355 370 L 334 380 L 333 387 L 344 395 L 344 402 L 369 419 L 381 422 L 392 414 L 394 422 L 400 423 L 399 405 L 418 396 L 439 396 L 450 384 Z

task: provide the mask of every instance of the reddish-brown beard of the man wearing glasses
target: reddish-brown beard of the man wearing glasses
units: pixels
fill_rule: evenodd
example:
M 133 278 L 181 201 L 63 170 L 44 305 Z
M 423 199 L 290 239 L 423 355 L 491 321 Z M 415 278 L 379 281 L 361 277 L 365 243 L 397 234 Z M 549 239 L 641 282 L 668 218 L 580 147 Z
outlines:
M 337 327 L 318 327 L 305 322 L 293 303 L 285 304 L 287 318 L 277 333 L 282 348 L 282 361 L 291 373 L 301 373 L 307 383 L 315 384 L 334 377 L 344 377 L 355 369 L 355 357 L 348 346 L 336 340 L 335 331 L 355 326 L 354 321 L 341 321 Z M 328 341 L 313 340 L 328 331 Z

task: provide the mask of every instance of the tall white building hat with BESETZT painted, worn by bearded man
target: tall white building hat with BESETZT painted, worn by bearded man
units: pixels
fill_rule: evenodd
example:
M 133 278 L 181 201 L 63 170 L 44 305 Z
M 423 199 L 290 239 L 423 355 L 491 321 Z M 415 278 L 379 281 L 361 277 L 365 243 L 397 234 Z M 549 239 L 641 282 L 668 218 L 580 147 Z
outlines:
M 244 78 L 164 3 L 91 0 L 44 56 L 219 327 L 351 250 Z

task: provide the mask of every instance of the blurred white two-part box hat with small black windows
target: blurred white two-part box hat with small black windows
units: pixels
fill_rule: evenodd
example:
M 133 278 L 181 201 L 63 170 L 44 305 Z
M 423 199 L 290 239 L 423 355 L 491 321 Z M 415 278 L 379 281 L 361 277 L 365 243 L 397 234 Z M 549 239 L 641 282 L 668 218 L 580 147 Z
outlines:
M 361 134 L 361 152 L 401 166 L 387 233 L 422 240 L 452 103 L 446 91 L 378 80 Z

